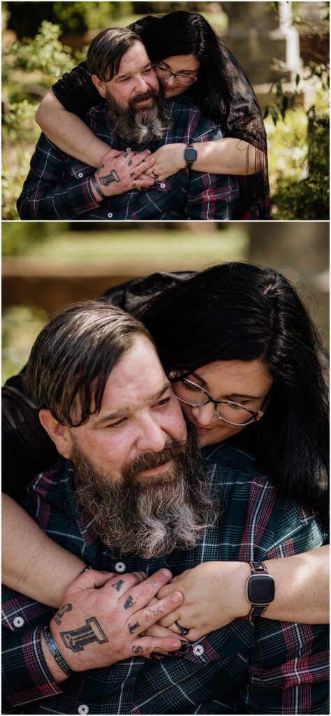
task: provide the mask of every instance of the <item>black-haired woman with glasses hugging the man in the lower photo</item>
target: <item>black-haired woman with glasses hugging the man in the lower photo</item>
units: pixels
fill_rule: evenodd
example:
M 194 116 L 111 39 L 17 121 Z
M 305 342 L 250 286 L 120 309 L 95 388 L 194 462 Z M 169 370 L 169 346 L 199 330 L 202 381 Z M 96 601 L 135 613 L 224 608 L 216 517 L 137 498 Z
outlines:
M 228 440 L 240 449 L 248 446 L 257 467 L 269 473 L 285 500 L 310 506 L 326 523 L 325 356 L 290 282 L 272 269 L 225 263 L 182 277 L 153 274 L 112 289 L 107 300 L 139 315 L 152 332 L 175 395 L 197 427 L 202 445 Z M 37 445 L 44 436 L 36 420 L 30 435 L 21 430 L 26 445 L 22 448 L 15 442 L 20 418 L 25 421 L 24 430 L 29 430 L 36 416 L 31 404 L 26 410 L 31 400 L 27 395 L 19 410 L 15 409 L 17 387 L 16 381 L 15 388 L 7 389 L 9 437 L 14 438 L 7 450 L 10 460 L 13 452 L 21 453 L 24 470 L 30 459 L 26 449 L 31 451 L 36 442 L 34 432 L 38 432 Z M 6 416 L 5 407 L 5 424 Z M 4 487 L 12 493 L 9 473 L 10 463 Z M 59 606 L 66 585 L 84 569 L 81 560 L 54 545 L 14 503 L 5 516 L 4 542 L 6 584 L 51 606 Z M 26 543 L 29 557 L 22 569 Z M 327 621 L 326 551 L 321 547 L 268 561 L 276 596 L 267 618 Z M 180 619 L 175 616 L 173 621 L 194 624 L 189 639 L 199 639 L 248 613 L 247 569 L 246 563 L 209 562 L 175 578 L 184 594 L 184 606 Z M 170 590 L 171 585 L 163 589 Z M 199 605 L 204 599 L 209 604 L 202 621 Z M 168 620 L 163 625 L 177 629 Z

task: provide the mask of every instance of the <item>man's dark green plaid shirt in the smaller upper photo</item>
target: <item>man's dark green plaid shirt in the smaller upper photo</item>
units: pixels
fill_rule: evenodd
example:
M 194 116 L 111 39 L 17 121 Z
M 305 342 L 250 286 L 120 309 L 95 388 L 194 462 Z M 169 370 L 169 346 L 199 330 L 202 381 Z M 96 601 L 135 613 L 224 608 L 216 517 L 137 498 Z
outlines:
M 170 102 L 173 125 L 162 140 L 128 147 L 117 135 L 104 105 L 92 107 L 87 125 L 114 149 L 155 152 L 164 144 L 208 142 L 222 131 L 207 120 L 187 97 Z M 17 202 L 21 219 L 81 219 L 103 221 L 178 219 L 228 220 L 238 196 L 237 178 L 181 170 L 152 189 L 127 191 L 98 203 L 89 178 L 95 169 L 69 157 L 43 134 L 31 159 L 31 169 Z

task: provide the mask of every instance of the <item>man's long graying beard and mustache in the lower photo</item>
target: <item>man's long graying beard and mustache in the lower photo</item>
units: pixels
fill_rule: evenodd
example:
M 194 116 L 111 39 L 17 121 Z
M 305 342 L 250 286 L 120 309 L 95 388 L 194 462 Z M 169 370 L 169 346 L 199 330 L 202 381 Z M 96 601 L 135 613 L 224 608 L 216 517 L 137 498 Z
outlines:
M 134 480 L 151 459 L 157 467 L 170 456 L 174 466 L 165 477 L 154 475 L 149 485 L 147 480 Z M 195 435 L 189 435 L 185 451 L 174 441 L 162 453 L 143 455 L 124 468 L 121 484 L 114 483 L 110 473 L 97 473 L 76 446 L 72 459 L 79 504 L 94 516 L 104 544 L 123 555 L 150 559 L 195 547 L 202 531 L 217 520 L 218 499 L 204 475 Z

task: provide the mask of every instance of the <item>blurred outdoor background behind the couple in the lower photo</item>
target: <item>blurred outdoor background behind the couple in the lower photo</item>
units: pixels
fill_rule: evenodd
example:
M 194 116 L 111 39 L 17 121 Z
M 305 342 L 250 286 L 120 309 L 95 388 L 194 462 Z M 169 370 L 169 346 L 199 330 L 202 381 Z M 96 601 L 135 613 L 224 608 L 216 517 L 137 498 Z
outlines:
M 154 271 L 252 261 L 281 271 L 305 300 L 328 346 L 327 222 L 6 222 L 3 241 L 3 382 L 26 362 L 48 314 L 96 299 Z

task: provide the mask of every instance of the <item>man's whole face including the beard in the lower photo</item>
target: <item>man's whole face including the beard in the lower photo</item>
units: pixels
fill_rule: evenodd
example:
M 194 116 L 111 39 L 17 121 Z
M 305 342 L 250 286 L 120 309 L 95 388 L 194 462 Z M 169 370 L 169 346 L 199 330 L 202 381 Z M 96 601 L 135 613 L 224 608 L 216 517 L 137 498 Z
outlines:
M 112 369 L 98 415 L 69 435 L 76 499 L 104 544 L 144 558 L 197 544 L 215 516 L 209 481 L 146 337 Z

